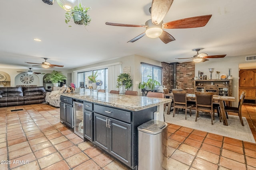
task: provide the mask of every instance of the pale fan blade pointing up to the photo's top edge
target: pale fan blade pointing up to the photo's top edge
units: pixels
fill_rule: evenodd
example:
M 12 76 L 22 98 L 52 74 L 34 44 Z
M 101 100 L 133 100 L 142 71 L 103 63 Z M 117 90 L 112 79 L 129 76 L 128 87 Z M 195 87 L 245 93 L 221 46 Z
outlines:
M 152 23 L 158 25 L 169 11 L 173 0 L 153 0 L 151 6 Z

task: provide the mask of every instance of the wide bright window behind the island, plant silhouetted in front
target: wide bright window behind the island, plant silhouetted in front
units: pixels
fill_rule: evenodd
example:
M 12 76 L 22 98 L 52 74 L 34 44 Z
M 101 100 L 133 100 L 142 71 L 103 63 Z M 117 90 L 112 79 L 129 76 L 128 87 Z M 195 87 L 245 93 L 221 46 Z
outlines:
M 85 71 L 85 72 L 78 72 L 77 73 L 77 84 L 78 87 L 88 87 L 89 79 L 88 76 L 95 74 L 95 72 L 98 71 L 97 75 L 98 77 L 96 80 L 102 80 L 102 89 L 108 90 L 108 68 L 103 68 L 100 70 L 91 70 L 91 71 Z

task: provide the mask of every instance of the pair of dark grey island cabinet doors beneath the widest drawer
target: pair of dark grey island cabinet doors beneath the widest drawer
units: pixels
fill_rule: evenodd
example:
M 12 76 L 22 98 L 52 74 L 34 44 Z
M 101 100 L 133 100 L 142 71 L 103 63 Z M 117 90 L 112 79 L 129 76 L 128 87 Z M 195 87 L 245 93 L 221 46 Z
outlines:
M 129 123 L 94 113 L 94 143 L 131 166 L 131 127 Z

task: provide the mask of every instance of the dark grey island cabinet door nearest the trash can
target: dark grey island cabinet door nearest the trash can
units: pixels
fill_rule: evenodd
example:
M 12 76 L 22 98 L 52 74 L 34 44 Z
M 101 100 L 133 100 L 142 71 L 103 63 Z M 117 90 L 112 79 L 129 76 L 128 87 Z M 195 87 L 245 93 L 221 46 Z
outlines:
M 131 166 L 132 125 L 115 119 L 110 119 L 110 122 L 110 153 Z

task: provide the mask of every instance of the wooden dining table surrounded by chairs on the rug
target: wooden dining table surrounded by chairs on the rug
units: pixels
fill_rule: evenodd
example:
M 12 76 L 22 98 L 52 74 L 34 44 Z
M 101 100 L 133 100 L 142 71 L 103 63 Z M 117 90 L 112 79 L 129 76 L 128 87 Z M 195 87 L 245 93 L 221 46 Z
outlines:
M 164 94 L 164 96 L 169 96 L 173 98 L 172 93 Z M 187 93 L 187 100 L 196 102 L 196 94 Z M 236 98 L 233 96 L 218 96 L 213 95 L 214 102 L 218 102 L 220 104 L 220 116 L 222 117 L 223 125 L 228 126 L 228 121 L 225 113 L 225 102 L 236 102 Z M 169 112 L 170 114 L 170 112 Z M 221 119 L 220 119 L 221 120 Z

